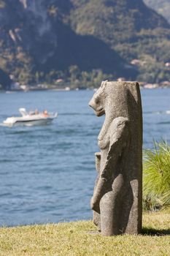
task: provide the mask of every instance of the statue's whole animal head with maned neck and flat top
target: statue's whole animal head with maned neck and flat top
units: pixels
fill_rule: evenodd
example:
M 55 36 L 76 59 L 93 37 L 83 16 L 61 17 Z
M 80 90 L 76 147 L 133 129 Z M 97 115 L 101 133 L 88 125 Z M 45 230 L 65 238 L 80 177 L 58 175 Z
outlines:
M 96 116 L 106 114 L 109 119 L 123 116 L 134 119 L 141 116 L 139 84 L 136 82 L 103 81 L 89 105 Z M 133 121 L 133 120 L 132 120 Z

